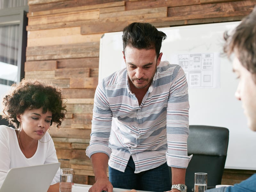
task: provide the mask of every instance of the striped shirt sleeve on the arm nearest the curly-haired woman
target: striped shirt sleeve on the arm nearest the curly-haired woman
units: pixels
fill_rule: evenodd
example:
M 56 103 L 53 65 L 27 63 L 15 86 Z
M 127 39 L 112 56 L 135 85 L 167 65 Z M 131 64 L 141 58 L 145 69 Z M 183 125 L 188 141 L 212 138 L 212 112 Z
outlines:
M 86 155 L 91 158 L 94 153 L 105 153 L 108 158 L 111 148 L 108 141 L 112 124 L 112 112 L 105 93 L 104 80 L 96 88 L 92 116 L 92 132 L 90 145 L 86 148 Z

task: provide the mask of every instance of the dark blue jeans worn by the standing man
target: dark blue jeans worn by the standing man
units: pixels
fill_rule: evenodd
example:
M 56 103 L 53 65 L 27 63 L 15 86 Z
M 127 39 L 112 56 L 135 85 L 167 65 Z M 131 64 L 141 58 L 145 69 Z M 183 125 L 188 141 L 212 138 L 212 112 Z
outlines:
M 167 163 L 154 169 L 134 173 L 135 164 L 130 157 L 124 172 L 108 166 L 109 181 L 114 188 L 163 192 L 171 190 Z

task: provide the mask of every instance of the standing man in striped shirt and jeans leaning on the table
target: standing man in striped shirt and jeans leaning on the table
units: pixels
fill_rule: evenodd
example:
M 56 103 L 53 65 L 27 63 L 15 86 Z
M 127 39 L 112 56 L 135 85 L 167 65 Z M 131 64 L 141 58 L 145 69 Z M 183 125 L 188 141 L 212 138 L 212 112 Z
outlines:
M 86 155 L 96 182 L 89 192 L 112 192 L 113 187 L 179 192 L 180 185 L 186 191 L 191 156 L 184 71 L 161 61 L 166 35 L 151 24 L 132 23 L 122 38 L 126 68 L 104 78 L 95 92 Z

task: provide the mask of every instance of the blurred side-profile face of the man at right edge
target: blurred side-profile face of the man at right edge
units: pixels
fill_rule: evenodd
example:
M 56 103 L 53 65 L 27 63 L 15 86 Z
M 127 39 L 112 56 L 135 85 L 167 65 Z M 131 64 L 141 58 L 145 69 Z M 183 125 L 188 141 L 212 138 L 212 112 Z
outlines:
M 256 84 L 253 75 L 241 65 L 237 57 L 233 60 L 233 71 L 239 79 L 235 93 L 236 99 L 242 101 L 248 126 L 256 131 Z

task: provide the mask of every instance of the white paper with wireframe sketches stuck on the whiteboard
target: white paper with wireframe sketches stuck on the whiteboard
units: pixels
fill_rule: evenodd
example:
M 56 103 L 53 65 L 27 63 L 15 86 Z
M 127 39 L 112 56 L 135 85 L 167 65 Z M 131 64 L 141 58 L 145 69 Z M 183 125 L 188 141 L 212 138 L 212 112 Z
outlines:
M 183 68 L 189 88 L 220 87 L 219 53 L 176 54 L 171 56 L 170 62 Z

